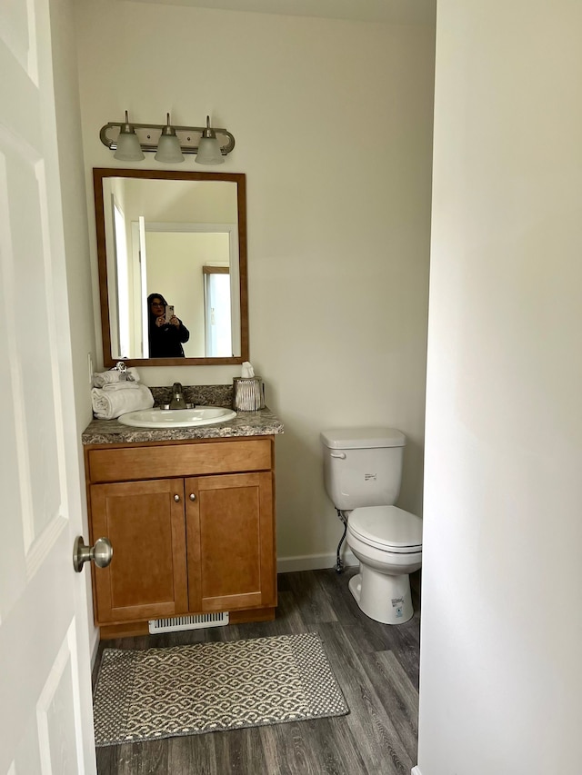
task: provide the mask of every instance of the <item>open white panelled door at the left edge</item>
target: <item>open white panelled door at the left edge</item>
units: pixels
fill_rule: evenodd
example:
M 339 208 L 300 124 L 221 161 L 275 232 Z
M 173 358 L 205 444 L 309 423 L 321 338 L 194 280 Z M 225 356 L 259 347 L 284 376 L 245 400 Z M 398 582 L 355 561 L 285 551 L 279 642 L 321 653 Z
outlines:
M 91 775 L 48 0 L 0 0 L 0 310 L 0 773 Z

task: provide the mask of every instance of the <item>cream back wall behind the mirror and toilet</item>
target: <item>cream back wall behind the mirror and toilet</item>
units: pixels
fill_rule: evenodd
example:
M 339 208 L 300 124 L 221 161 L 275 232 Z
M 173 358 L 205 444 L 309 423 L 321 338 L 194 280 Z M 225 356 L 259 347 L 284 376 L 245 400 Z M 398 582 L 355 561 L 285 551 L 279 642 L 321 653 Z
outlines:
M 125 110 L 153 123 L 210 114 L 236 136 L 221 171 L 246 174 L 251 360 L 286 424 L 278 554 L 331 566 L 341 525 L 322 429 L 405 432 L 400 503 L 421 509 L 434 29 L 106 0 L 77 10 L 88 181 L 124 165 L 98 134 Z M 178 168 L 199 169 L 192 157 Z M 239 373 L 141 371 L 148 384 Z

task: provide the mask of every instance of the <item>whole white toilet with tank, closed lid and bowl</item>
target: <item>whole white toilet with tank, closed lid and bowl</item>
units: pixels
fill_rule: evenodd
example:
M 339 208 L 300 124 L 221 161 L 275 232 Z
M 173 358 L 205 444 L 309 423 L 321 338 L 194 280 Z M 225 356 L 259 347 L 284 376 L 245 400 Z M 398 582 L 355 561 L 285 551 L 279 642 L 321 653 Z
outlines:
M 403 624 L 414 610 L 408 574 L 422 561 L 422 520 L 398 509 L 406 436 L 393 428 L 321 433 L 326 491 L 347 518 L 346 542 L 360 562 L 349 589 L 375 621 Z

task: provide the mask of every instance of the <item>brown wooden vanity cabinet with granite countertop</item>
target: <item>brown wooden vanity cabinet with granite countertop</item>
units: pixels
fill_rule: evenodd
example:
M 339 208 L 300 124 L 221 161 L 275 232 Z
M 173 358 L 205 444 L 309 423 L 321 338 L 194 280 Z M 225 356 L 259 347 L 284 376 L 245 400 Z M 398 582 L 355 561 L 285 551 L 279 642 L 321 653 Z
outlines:
M 194 428 L 88 426 L 90 542 L 104 536 L 114 549 L 107 568 L 91 569 L 102 638 L 191 614 L 274 618 L 274 446 L 282 432 L 268 409 Z

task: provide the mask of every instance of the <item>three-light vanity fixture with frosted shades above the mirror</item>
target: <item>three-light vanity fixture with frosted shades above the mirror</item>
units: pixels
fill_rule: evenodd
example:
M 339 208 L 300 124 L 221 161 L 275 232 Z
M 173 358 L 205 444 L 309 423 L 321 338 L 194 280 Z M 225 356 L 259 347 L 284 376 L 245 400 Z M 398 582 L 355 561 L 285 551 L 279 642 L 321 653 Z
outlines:
M 155 153 L 162 164 L 183 162 L 183 154 L 196 154 L 196 164 L 223 164 L 235 147 L 230 132 L 210 126 L 210 116 L 206 116 L 206 127 L 173 126 L 169 113 L 166 118 L 166 124 L 130 124 L 125 111 L 125 122 L 110 121 L 101 127 L 99 137 L 115 151 L 114 158 L 123 162 L 140 162 L 146 152 Z

